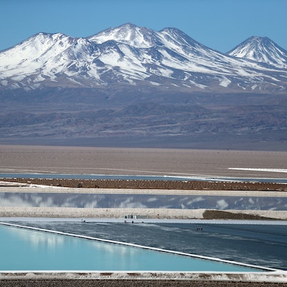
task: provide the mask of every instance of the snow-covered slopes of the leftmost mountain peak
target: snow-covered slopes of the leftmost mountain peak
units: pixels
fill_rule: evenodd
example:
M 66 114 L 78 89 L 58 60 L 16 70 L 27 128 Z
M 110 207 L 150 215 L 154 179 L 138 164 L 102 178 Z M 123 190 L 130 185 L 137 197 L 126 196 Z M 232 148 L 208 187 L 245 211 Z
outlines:
M 14 81 L 16 88 L 19 83 L 37 88 L 42 81 L 59 81 L 59 75 L 81 78 L 93 60 L 92 52 L 87 39 L 39 33 L 0 53 L 0 79 Z M 97 79 L 97 74 L 93 77 Z

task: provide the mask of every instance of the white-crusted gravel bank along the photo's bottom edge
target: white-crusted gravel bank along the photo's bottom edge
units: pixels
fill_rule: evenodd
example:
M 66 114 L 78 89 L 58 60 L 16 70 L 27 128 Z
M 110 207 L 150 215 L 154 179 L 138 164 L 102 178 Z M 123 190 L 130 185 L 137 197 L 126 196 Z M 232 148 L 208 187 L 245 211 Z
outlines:
M 261 273 L 173 273 L 173 272 L 69 272 L 69 273 L 0 273 L 1 286 L 212 286 L 212 287 L 277 287 L 287 285 L 284 271 Z

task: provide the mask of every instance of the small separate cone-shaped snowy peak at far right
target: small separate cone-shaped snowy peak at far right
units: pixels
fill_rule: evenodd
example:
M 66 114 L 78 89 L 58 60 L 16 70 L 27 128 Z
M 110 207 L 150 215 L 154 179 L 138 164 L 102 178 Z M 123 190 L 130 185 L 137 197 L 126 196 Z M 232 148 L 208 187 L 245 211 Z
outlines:
M 228 52 L 228 55 L 287 68 L 287 51 L 267 37 L 250 37 Z

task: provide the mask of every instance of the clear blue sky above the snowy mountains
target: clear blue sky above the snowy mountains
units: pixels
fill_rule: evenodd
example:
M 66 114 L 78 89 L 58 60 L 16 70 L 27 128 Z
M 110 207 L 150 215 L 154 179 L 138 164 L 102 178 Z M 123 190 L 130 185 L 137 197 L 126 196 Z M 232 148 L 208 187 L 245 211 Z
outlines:
M 179 28 L 221 52 L 250 36 L 287 50 L 287 0 L 0 0 L 0 50 L 38 32 L 88 37 L 128 22 Z

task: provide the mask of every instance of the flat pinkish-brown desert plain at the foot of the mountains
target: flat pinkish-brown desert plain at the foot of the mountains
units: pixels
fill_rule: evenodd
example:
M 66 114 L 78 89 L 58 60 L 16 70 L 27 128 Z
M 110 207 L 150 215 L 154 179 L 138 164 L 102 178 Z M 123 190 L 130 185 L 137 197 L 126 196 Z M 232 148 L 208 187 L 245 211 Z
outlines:
M 0 146 L 0 172 L 286 178 L 287 152 Z

